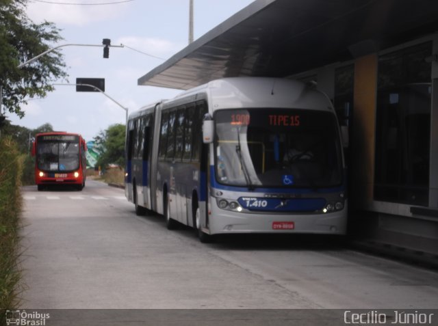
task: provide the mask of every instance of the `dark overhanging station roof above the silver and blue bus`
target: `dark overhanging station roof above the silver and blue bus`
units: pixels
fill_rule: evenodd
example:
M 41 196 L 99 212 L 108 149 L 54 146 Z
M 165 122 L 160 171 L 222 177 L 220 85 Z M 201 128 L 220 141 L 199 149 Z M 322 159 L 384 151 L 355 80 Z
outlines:
M 138 85 L 188 90 L 222 77 L 287 77 L 437 30 L 436 0 L 257 0 Z

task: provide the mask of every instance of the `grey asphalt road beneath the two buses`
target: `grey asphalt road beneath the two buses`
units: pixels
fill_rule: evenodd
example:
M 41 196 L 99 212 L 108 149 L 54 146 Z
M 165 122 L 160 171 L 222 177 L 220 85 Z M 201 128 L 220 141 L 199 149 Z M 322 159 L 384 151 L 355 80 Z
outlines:
M 435 309 L 438 273 L 320 236 L 203 244 L 123 189 L 23 187 L 23 308 Z

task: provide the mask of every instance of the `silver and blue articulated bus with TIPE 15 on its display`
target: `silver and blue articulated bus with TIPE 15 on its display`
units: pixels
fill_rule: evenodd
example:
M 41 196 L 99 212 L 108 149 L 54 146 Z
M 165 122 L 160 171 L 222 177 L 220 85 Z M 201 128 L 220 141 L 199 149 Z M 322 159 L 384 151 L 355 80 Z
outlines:
M 346 233 L 342 137 L 329 98 L 289 79 L 218 79 L 132 113 L 125 194 L 168 229 Z

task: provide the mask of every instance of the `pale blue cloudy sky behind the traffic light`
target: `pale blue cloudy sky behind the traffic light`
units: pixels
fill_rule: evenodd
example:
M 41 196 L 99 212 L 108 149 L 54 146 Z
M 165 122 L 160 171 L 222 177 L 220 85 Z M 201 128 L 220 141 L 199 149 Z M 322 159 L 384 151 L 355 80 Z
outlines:
M 254 0 L 194 0 L 194 40 L 239 12 Z M 112 3 L 112 4 L 105 4 Z M 138 86 L 144 74 L 188 45 L 189 0 L 29 0 L 27 16 L 34 23 L 55 23 L 64 40 L 53 44 L 102 44 L 109 38 L 110 57 L 102 47 L 65 46 L 68 77 L 55 83 L 74 84 L 76 78 L 105 78 L 105 94 L 76 92 L 56 85 L 42 99 L 23 105 L 25 117 L 6 113 L 12 124 L 30 129 L 50 123 L 55 131 L 81 133 L 87 141 L 112 124 L 125 124 L 129 113 L 181 90 Z M 137 50 L 137 51 L 135 51 Z M 139 53 L 141 51 L 148 55 Z

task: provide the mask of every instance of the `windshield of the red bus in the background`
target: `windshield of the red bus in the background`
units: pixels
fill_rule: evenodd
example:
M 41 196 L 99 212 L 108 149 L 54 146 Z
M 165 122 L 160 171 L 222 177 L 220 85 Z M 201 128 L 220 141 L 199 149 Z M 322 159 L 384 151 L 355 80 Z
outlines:
M 36 161 L 46 172 L 70 172 L 79 169 L 79 137 L 44 135 L 38 137 Z

